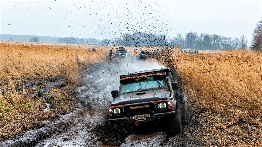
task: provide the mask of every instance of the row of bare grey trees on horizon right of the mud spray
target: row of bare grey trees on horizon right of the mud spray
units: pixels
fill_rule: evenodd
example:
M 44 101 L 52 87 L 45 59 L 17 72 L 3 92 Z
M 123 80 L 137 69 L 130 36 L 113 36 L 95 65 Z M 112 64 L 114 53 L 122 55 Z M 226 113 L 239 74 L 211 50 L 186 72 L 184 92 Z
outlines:
M 197 34 L 189 32 L 185 35 L 177 34 L 177 37 L 171 40 L 171 45 L 181 48 L 191 48 L 193 50 L 207 49 L 243 49 L 247 48 L 247 39 L 244 35 L 240 38 L 224 37 L 219 35 L 210 35 L 207 33 Z

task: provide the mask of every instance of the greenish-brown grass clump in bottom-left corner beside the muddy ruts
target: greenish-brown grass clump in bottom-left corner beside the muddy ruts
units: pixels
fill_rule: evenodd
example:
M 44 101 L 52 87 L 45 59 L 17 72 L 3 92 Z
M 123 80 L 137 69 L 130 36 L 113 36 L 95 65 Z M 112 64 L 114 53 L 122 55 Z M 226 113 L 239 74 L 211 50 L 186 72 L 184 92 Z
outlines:
M 42 120 L 55 117 L 53 111 L 43 111 L 41 99 L 30 97 L 26 89 L 18 87 L 20 85 L 10 80 L 0 90 L 0 141 L 22 131 L 38 129 Z

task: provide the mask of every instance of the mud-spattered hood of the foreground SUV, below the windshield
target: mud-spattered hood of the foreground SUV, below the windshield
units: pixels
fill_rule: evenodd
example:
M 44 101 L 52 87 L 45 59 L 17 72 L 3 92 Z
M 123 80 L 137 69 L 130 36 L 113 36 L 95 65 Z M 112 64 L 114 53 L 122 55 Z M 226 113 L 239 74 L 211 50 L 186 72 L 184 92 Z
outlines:
M 137 95 L 137 93 L 143 92 L 145 92 L 145 94 Z M 167 88 L 123 93 L 118 95 L 116 100 L 110 106 L 164 100 L 169 99 L 170 94 L 171 92 Z

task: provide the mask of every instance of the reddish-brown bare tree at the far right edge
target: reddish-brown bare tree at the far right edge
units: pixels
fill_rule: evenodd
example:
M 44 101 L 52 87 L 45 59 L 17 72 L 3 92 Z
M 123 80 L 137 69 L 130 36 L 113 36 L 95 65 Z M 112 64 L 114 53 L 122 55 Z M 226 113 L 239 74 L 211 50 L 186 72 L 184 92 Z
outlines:
M 252 33 L 251 49 L 262 51 L 262 16 Z

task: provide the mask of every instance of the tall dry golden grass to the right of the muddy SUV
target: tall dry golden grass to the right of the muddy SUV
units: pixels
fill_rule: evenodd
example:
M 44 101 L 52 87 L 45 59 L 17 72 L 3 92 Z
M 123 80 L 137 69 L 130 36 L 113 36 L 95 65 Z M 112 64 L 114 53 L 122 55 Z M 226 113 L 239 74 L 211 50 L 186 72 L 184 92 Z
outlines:
M 179 49 L 178 49 L 179 50 Z M 178 53 L 178 52 L 177 52 Z M 172 54 L 162 62 L 177 71 L 195 102 L 211 146 L 261 146 L 261 54 L 248 50 Z

